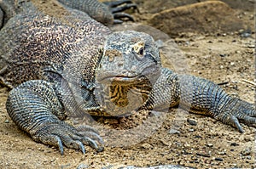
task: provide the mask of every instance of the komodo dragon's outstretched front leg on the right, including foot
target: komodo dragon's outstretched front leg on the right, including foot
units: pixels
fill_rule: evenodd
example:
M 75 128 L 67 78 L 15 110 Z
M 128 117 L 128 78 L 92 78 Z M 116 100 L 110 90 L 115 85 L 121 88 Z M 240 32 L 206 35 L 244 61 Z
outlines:
M 154 85 L 143 109 L 154 109 L 168 104 L 179 104 L 192 113 L 209 115 L 224 124 L 244 132 L 242 121 L 247 126 L 256 125 L 256 110 L 253 104 L 231 97 L 224 89 L 206 79 L 190 75 L 178 75 L 162 68 L 161 76 Z

